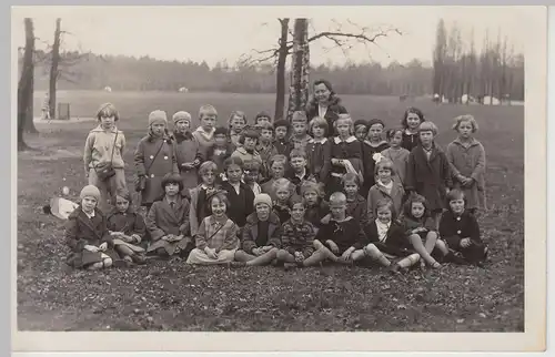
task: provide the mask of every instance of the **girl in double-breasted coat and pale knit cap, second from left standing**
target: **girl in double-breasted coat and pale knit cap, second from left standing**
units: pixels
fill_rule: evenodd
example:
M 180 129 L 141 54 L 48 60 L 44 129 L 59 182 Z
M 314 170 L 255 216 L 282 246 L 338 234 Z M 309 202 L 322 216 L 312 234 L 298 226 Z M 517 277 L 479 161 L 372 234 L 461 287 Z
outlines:
M 135 190 L 141 192 L 141 205 L 147 210 L 164 194 L 161 185 L 163 176 L 171 172 L 179 173 L 175 151 L 167 128 L 164 111 L 155 110 L 150 113 L 149 133 L 139 141 L 134 153 Z

